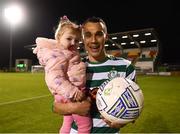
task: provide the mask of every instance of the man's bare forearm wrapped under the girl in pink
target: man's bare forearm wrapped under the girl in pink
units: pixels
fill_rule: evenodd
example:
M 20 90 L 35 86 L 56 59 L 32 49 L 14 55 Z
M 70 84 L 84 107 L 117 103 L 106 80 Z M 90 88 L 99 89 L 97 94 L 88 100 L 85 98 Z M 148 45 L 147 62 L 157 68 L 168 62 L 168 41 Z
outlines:
M 90 108 L 91 108 L 91 101 L 90 98 L 87 98 L 82 102 L 68 102 L 68 103 L 54 102 L 53 111 L 61 115 L 78 114 L 84 116 L 90 112 Z

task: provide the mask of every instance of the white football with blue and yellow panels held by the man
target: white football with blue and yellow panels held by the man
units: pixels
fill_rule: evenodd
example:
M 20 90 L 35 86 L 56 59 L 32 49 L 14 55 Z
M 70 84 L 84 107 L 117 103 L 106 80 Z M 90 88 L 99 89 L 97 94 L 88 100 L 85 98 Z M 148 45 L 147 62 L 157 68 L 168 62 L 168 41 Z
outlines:
M 96 94 L 101 115 L 111 122 L 127 124 L 136 120 L 143 109 L 144 97 L 137 83 L 116 77 L 104 82 Z

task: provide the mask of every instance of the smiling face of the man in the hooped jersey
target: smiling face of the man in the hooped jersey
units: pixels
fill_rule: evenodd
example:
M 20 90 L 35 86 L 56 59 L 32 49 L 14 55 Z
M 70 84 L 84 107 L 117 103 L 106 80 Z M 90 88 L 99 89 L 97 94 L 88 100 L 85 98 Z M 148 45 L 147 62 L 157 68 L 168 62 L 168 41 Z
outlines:
M 107 40 L 101 23 L 88 22 L 83 27 L 83 42 L 91 62 L 102 61 L 105 58 L 104 44 Z

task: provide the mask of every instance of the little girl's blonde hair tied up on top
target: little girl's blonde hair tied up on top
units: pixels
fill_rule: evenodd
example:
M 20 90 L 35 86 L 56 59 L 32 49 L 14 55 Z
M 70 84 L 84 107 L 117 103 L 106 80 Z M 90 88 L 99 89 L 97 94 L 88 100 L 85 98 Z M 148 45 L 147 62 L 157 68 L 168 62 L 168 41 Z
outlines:
M 71 29 L 81 34 L 81 27 L 76 23 L 71 22 L 67 16 L 60 18 L 58 28 L 55 31 L 55 39 L 59 40 L 66 29 Z

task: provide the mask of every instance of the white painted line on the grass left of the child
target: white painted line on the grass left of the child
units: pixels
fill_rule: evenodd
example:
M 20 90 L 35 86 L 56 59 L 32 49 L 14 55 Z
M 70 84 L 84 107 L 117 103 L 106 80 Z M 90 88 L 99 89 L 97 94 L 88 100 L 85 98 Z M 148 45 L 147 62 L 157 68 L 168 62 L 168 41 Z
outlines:
M 42 96 L 37 96 L 37 97 L 32 97 L 32 98 L 27 98 L 27 99 L 20 99 L 20 100 L 16 100 L 16 101 L 3 102 L 3 103 L 0 103 L 0 106 L 7 105 L 7 104 L 24 102 L 24 101 L 29 101 L 29 100 L 40 99 L 40 98 L 44 98 L 44 97 L 48 97 L 48 96 L 51 96 L 51 95 L 42 95 Z

